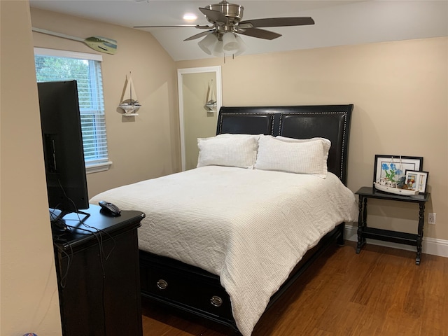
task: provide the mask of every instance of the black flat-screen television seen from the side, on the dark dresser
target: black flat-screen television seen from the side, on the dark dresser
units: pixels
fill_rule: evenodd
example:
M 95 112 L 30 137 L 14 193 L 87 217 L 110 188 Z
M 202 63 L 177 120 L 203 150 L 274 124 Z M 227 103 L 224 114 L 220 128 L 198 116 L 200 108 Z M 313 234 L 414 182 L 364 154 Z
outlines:
M 82 222 L 88 214 L 80 209 L 89 208 L 78 87 L 76 80 L 37 85 L 50 221 L 66 230 L 66 214 Z

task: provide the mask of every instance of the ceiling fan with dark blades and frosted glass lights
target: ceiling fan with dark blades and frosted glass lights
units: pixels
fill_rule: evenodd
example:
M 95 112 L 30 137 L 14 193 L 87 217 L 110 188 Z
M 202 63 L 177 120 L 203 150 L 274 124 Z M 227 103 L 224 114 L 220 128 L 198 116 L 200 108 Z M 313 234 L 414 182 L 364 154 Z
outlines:
M 207 54 L 237 56 L 246 50 L 246 46 L 238 34 L 273 40 L 280 37 L 281 34 L 260 28 L 314 25 L 314 20 L 309 17 L 263 18 L 241 21 L 244 7 L 228 3 L 226 0 L 205 6 L 205 8 L 199 8 L 199 10 L 211 25 L 135 26 L 134 28 L 195 27 L 205 29 L 183 41 L 191 41 L 205 36 L 198 45 Z

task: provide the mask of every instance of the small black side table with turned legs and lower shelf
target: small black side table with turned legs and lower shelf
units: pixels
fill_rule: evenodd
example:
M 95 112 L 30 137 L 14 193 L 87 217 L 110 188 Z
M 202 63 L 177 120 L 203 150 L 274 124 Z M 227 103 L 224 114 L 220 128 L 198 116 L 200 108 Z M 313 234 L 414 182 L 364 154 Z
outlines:
M 390 193 L 384 193 L 372 187 L 362 187 L 357 192 L 359 196 L 359 217 L 358 217 L 358 246 L 356 253 L 360 253 L 361 248 L 366 243 L 366 238 L 377 239 L 382 241 L 391 241 L 399 244 L 407 244 L 416 246 L 417 255 L 415 259 L 416 265 L 420 265 L 421 259 L 421 242 L 423 240 L 423 224 L 425 214 L 425 203 L 428 202 L 430 193 L 421 193 L 415 196 L 402 196 Z M 419 204 L 419 226 L 417 234 L 406 232 L 397 232 L 391 230 L 382 230 L 367 227 L 367 199 L 376 198 L 379 200 L 390 200 L 399 202 L 412 202 Z

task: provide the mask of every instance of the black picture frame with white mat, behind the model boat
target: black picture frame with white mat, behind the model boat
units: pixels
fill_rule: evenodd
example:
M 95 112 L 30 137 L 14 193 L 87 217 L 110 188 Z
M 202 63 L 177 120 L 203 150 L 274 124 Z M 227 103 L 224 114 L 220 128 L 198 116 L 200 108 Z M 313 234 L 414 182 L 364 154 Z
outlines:
M 394 176 L 397 179 L 401 177 L 406 177 L 406 171 L 419 172 L 423 169 L 423 157 L 421 156 L 405 156 L 405 155 L 381 155 L 376 154 L 374 159 L 374 169 L 373 169 L 373 183 L 381 179 L 381 174 L 385 174 L 385 170 L 381 169 L 383 165 L 387 165 L 391 168 L 391 164 L 395 165 L 398 169 L 395 169 Z M 393 169 L 392 169 L 393 170 Z M 397 171 L 400 171 L 397 174 Z M 374 187 L 374 184 L 373 184 Z

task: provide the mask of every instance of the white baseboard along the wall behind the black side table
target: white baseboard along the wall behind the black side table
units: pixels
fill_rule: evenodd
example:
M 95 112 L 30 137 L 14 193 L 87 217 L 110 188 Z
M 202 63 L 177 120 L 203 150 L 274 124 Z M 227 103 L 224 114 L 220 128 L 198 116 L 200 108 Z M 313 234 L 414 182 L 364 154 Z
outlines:
M 358 241 L 357 230 L 357 226 L 345 225 L 345 239 L 349 241 Z M 415 251 L 415 246 L 391 243 L 389 241 L 367 239 L 367 244 L 401 248 L 402 250 L 407 251 Z M 421 252 L 448 258 L 448 240 L 423 237 Z

